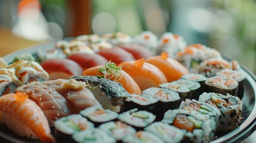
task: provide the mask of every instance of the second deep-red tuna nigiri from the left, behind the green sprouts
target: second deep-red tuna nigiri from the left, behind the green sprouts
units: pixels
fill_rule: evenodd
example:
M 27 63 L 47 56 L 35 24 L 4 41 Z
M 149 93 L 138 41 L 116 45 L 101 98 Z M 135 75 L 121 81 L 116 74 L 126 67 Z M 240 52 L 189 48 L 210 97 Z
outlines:
M 83 70 L 107 63 L 106 58 L 99 54 L 76 53 L 67 58 L 78 63 Z

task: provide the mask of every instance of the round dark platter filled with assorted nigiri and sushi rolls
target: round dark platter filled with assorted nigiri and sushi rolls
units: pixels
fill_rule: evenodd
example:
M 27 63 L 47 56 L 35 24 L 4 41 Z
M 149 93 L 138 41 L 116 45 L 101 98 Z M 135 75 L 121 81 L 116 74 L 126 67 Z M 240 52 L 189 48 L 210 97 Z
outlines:
M 242 142 L 256 129 L 256 76 L 169 32 L 58 39 L 0 66 L 0 142 Z

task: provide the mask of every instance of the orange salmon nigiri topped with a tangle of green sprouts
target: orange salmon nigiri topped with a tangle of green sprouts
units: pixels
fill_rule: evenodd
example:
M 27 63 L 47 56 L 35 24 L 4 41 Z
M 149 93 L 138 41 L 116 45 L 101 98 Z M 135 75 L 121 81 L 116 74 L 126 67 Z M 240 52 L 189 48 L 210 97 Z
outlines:
M 101 66 L 91 67 L 90 69 L 85 70 L 82 73 L 82 75 L 98 76 L 98 77 L 106 76 L 107 79 L 121 83 L 121 85 L 124 86 L 125 90 L 129 92 L 129 94 L 141 95 L 140 87 L 134 81 L 134 79 L 132 79 L 132 77 L 129 76 L 127 72 L 122 70 L 121 67 L 116 67 L 115 63 L 109 62 L 109 63 L 106 63 L 105 66 L 101 65 Z

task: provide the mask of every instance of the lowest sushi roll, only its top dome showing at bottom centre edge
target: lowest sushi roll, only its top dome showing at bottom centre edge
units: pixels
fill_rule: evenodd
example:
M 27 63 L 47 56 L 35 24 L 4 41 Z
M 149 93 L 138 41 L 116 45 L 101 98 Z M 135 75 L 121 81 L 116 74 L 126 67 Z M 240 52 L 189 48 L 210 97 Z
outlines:
M 126 136 L 122 142 L 124 143 L 134 143 L 134 142 L 138 142 L 138 143 L 164 143 L 164 141 L 159 138 L 158 136 L 154 135 L 151 132 L 147 132 L 147 131 L 138 131 L 136 133 L 133 133 L 131 135 Z

